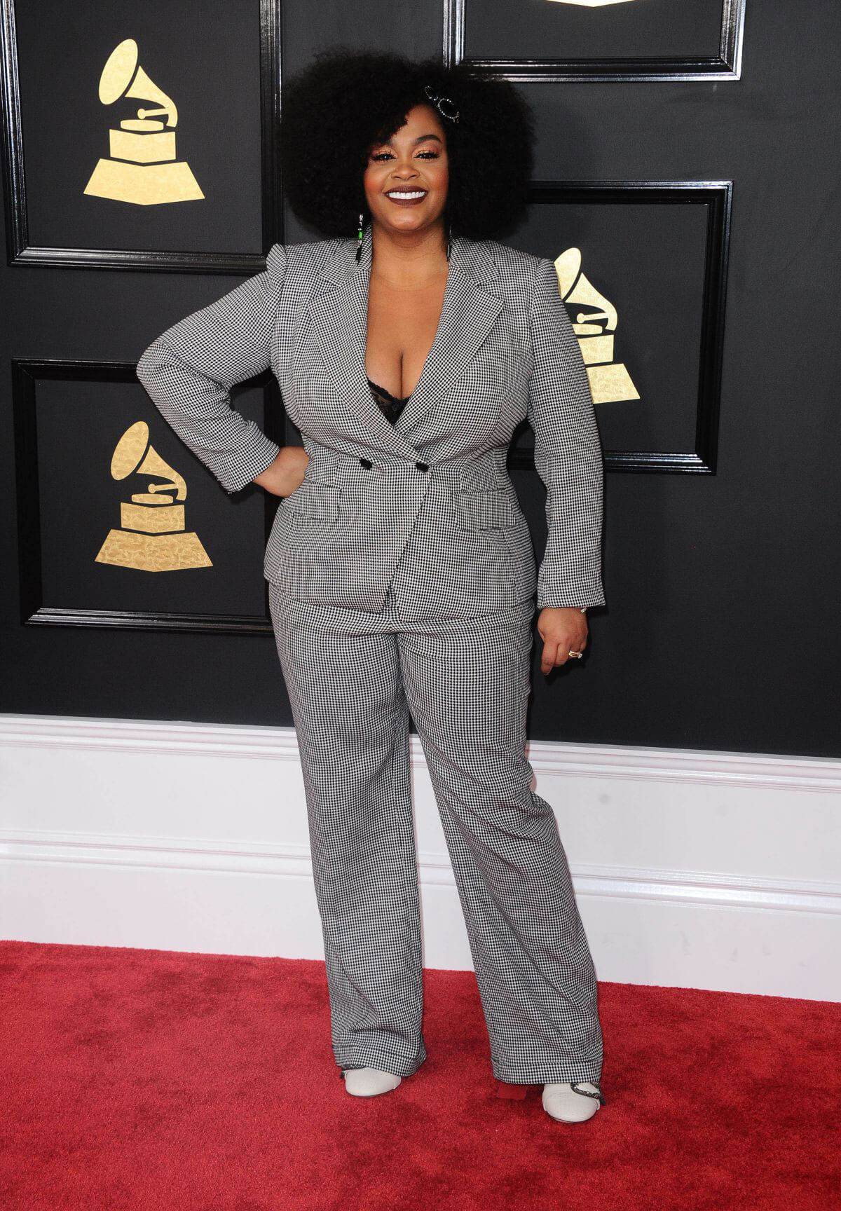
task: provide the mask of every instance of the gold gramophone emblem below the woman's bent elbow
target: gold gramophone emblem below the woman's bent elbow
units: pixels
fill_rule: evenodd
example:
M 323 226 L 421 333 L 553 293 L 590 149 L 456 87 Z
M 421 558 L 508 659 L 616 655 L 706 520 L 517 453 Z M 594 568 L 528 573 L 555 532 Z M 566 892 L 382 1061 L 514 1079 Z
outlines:
M 154 475 L 166 482 L 149 483 L 145 492 L 132 493 L 131 500 L 121 503 L 120 529 L 109 530 L 96 563 L 141 572 L 211 568 L 199 535 L 184 530 L 184 506 L 176 504 L 187 499 L 187 483 L 149 444 L 145 420 L 126 429 L 111 455 L 113 478 L 130 475 Z

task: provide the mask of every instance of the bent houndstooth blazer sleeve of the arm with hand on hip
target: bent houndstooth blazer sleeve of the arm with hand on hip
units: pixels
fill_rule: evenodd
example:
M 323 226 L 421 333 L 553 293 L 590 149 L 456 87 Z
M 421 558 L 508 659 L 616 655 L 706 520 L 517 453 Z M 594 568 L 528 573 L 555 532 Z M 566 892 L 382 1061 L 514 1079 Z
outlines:
M 230 404 L 235 383 L 270 366 L 286 271 L 282 243 L 271 246 L 265 266 L 173 323 L 137 363 L 137 377 L 160 414 L 228 493 L 251 483 L 280 450 Z

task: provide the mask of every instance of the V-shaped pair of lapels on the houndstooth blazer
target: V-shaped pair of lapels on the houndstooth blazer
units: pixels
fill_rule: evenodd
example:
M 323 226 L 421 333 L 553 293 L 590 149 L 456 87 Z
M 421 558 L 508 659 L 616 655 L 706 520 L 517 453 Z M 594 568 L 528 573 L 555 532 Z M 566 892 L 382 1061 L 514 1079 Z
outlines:
M 368 436 L 373 434 L 405 457 L 417 452 L 408 436 L 412 427 L 464 373 L 499 316 L 504 298 L 494 293 L 497 268 L 481 241 L 454 236 L 435 339 L 420 378 L 393 424 L 373 398 L 365 371 L 371 257 L 368 224 L 359 262 L 351 240 L 342 241 L 327 258 L 321 269 L 325 288 L 310 298 L 309 315 L 324 360 Z

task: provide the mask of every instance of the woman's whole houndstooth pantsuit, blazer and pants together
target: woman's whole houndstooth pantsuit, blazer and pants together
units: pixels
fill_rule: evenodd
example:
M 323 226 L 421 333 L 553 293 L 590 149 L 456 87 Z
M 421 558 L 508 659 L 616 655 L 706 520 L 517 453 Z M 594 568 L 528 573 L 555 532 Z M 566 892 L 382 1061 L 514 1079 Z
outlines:
M 453 239 L 435 342 L 391 423 L 366 371 L 371 235 L 274 245 L 173 325 L 138 378 L 236 492 L 275 443 L 230 406 L 267 367 L 309 454 L 265 550 L 304 777 L 339 1071 L 410 1075 L 422 935 L 410 719 L 435 791 L 499 1080 L 597 1083 L 596 976 L 554 813 L 525 756 L 533 595 L 603 603 L 602 464 L 549 260 Z M 505 469 L 528 415 L 547 487 L 539 572 Z

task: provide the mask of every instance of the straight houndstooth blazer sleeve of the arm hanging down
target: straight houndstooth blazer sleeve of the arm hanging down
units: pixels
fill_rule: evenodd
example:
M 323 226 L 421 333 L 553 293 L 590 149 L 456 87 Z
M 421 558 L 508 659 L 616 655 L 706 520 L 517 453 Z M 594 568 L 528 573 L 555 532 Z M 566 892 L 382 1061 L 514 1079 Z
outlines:
M 538 259 L 531 306 L 528 421 L 547 488 L 537 608 L 603 606 L 603 461 L 590 383 L 551 260 Z

